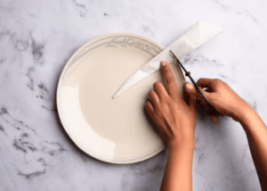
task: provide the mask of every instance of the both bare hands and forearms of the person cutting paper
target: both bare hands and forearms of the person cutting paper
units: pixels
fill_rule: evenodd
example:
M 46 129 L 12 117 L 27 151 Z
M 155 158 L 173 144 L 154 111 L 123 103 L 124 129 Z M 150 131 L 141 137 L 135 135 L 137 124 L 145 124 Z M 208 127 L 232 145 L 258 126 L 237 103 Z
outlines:
M 219 115 L 239 121 L 247 134 L 250 151 L 263 190 L 267 191 L 267 127 L 255 110 L 221 79 L 198 79 L 198 86 L 216 108 L 208 104 L 190 83 L 184 85 L 184 100 L 167 62 L 161 62 L 166 87 L 156 82 L 145 104 L 150 117 L 164 135 L 168 156 L 161 191 L 192 190 L 192 159 L 196 127 L 196 101 L 206 108 L 212 120 Z M 177 181 L 179 180 L 179 181 Z

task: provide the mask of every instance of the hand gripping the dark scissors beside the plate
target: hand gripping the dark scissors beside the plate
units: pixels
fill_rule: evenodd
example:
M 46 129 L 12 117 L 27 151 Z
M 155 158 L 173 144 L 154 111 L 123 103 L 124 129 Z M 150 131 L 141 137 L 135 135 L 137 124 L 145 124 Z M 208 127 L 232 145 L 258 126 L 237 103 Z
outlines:
M 199 87 L 206 88 L 206 90 L 202 88 L 200 90 L 221 115 L 230 116 L 232 119 L 239 121 L 242 119 L 244 112 L 251 109 L 250 105 L 221 79 L 198 79 L 197 84 Z M 184 90 L 190 95 L 196 95 L 200 105 L 211 111 L 210 106 L 192 84 L 186 83 Z M 212 120 L 217 120 L 218 113 L 208 113 Z

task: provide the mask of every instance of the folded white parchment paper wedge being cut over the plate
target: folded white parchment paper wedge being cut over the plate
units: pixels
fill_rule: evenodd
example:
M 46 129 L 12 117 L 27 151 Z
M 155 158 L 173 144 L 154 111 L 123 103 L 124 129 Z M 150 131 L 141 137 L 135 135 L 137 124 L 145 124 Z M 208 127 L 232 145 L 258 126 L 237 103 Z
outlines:
M 135 71 L 132 76 L 126 79 L 123 85 L 117 90 L 117 93 L 113 95 L 113 98 L 121 95 L 142 79 L 150 76 L 153 72 L 158 71 L 160 68 L 160 61 L 165 60 L 166 62 L 174 62 L 174 57 L 170 54 L 169 50 L 172 50 L 174 54 L 180 58 L 185 54 L 189 54 L 191 51 L 198 48 L 198 46 L 205 44 L 211 38 L 221 34 L 223 31 L 223 28 L 216 24 L 198 21 L 187 30 L 182 37 L 179 37 L 172 45 L 167 46 L 165 50 L 152 58 L 150 62 L 147 62 L 138 71 Z

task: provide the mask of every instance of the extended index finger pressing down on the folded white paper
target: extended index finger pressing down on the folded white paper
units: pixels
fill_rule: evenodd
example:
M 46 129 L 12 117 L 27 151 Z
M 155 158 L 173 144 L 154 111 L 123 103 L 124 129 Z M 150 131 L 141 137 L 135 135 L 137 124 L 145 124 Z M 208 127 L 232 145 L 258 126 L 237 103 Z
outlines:
M 166 79 L 166 90 L 170 96 L 180 96 L 174 74 L 166 61 L 160 62 L 161 71 Z

